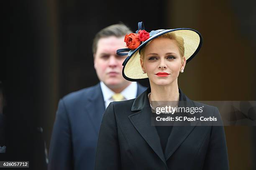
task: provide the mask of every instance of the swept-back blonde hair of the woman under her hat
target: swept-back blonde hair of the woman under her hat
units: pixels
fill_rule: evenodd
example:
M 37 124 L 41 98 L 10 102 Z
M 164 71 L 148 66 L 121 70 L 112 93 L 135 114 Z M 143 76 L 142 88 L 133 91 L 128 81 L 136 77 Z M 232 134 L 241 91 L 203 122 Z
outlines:
M 168 38 L 168 39 L 170 39 L 170 40 L 174 40 L 174 41 L 176 42 L 177 46 L 179 47 L 179 54 L 180 54 L 180 56 L 181 56 L 181 62 L 182 62 L 182 64 L 183 64 L 184 61 L 182 60 L 182 58 L 184 57 L 185 48 L 184 48 L 184 40 L 183 40 L 182 37 L 175 35 L 174 32 L 168 32 L 168 33 L 163 34 L 163 35 L 160 35 L 159 37 L 156 37 L 156 38 Z M 150 42 L 151 42 L 151 41 L 150 41 Z M 140 58 L 141 58 L 143 61 L 144 61 L 145 48 L 146 48 L 146 46 L 147 46 L 150 42 L 148 42 L 148 43 L 145 45 L 145 47 L 143 47 L 143 48 L 141 49 Z

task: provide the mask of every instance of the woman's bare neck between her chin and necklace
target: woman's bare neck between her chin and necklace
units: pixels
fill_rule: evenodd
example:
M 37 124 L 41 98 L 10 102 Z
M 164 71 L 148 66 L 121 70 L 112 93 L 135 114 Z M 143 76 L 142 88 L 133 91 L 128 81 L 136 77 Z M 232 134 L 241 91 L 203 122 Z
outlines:
M 150 84 L 151 86 L 151 101 L 179 101 L 178 83 L 172 83 L 167 86 Z

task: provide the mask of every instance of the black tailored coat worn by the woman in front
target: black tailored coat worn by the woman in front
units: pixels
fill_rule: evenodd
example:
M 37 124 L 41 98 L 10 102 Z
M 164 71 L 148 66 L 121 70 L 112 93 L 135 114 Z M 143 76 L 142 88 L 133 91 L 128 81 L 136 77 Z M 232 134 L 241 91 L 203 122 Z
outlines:
M 149 91 L 110 103 L 102 118 L 95 170 L 228 170 L 223 126 L 173 126 L 163 152 L 151 126 Z M 204 105 L 180 93 L 190 107 Z M 204 105 L 204 113 L 221 119 L 217 107 Z

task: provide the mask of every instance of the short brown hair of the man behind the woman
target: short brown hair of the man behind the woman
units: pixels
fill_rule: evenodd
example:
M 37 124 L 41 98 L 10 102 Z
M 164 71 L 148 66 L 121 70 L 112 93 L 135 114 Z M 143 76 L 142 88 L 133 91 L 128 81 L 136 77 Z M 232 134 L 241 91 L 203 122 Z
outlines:
M 92 42 L 92 53 L 95 54 L 97 51 L 97 44 L 100 38 L 104 37 L 110 37 L 110 36 L 115 36 L 115 37 L 123 37 L 126 34 L 130 34 L 132 31 L 130 28 L 128 28 L 126 25 L 123 23 L 120 24 L 114 24 L 110 25 L 106 28 L 103 28 L 100 30 L 94 37 L 93 42 Z

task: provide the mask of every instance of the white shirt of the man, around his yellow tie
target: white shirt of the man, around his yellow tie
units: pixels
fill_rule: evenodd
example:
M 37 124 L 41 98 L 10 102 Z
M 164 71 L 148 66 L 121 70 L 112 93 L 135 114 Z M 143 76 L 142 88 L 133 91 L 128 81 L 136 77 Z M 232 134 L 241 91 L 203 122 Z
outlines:
M 103 99 L 105 102 L 105 108 L 107 108 L 109 103 L 114 101 L 112 96 L 115 94 L 115 92 L 110 90 L 110 88 L 108 88 L 102 81 L 100 82 L 100 88 L 102 90 Z M 128 85 L 128 87 L 126 87 L 120 93 L 123 95 L 124 100 L 130 100 L 130 99 L 134 99 L 137 97 L 136 96 L 137 90 L 138 90 L 137 82 L 132 82 L 130 85 Z

